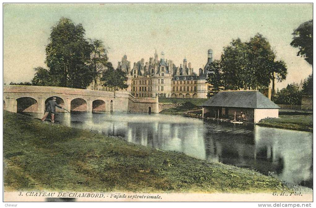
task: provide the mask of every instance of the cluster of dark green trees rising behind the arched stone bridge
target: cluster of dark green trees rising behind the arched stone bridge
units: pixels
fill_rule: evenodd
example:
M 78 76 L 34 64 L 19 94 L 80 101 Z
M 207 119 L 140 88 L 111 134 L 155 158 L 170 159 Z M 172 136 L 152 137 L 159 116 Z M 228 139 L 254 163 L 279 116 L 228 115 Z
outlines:
M 86 89 L 94 80 L 95 90 L 97 78 L 100 78 L 103 86 L 116 90 L 127 88 L 126 73 L 114 70 L 104 43 L 98 39 L 86 39 L 81 24 L 61 18 L 52 27 L 45 50 L 47 69 L 34 68 L 35 76 L 27 85 Z

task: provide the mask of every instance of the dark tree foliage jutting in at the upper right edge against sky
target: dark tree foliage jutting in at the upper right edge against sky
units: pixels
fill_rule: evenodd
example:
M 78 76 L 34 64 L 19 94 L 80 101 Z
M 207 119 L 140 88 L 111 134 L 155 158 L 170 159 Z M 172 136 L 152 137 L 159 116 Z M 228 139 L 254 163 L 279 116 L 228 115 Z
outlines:
M 291 46 L 298 48 L 298 56 L 313 66 L 313 20 L 302 23 L 292 33 Z

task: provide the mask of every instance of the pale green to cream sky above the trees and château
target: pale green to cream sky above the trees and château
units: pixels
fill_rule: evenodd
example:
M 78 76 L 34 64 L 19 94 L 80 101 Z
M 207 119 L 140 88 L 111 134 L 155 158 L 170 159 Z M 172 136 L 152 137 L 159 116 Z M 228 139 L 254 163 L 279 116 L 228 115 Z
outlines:
M 312 66 L 291 47 L 292 32 L 313 19 L 313 4 L 5 4 L 3 7 L 3 82 L 26 82 L 34 68 L 45 64 L 45 46 L 52 26 L 61 17 L 81 23 L 86 38 L 108 47 L 116 68 L 124 54 L 133 63 L 160 58 L 179 66 L 184 57 L 194 71 L 207 63 L 207 50 L 220 59 L 223 48 L 236 38 L 248 41 L 261 33 L 285 61 L 288 75 L 276 83 L 282 89 L 300 83 Z

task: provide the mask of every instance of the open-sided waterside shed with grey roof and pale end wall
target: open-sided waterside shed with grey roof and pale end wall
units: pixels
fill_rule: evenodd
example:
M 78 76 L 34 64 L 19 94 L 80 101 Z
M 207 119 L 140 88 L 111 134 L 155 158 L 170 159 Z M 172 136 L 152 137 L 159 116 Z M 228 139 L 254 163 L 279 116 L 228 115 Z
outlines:
M 203 104 L 203 117 L 258 123 L 278 118 L 279 106 L 256 90 L 220 91 Z

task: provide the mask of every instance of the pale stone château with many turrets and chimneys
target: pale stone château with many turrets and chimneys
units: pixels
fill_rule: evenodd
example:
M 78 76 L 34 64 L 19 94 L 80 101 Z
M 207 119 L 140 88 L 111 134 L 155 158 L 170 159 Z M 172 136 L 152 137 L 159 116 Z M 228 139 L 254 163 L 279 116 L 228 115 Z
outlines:
M 211 84 L 206 83 L 207 66 L 213 61 L 213 51 L 208 50 L 208 60 L 204 69 L 200 68 L 198 75 L 193 72 L 193 67 L 187 59 L 183 64 L 175 66 L 172 60 L 167 60 L 161 52 L 161 58 L 155 52 L 148 62 L 141 59 L 135 62 L 131 69 L 131 63 L 124 55 L 119 61 L 117 69 L 127 73 L 128 88 L 124 91 L 131 92 L 135 97 L 180 97 L 180 98 L 207 98 L 207 92 Z M 97 89 L 111 91 L 112 89 L 102 86 L 100 78 L 97 81 Z M 94 89 L 92 83 L 88 89 Z

